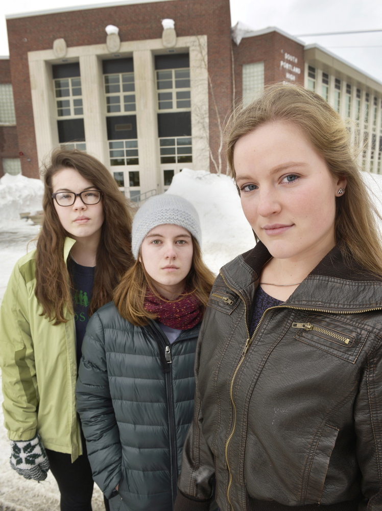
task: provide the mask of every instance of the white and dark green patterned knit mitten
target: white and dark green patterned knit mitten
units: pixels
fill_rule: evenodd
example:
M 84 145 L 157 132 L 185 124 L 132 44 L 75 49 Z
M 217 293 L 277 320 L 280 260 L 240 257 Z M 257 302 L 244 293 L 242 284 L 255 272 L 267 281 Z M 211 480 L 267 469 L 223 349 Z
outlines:
M 13 470 L 26 479 L 46 479 L 49 460 L 38 434 L 32 440 L 11 441 L 11 448 L 10 463 Z

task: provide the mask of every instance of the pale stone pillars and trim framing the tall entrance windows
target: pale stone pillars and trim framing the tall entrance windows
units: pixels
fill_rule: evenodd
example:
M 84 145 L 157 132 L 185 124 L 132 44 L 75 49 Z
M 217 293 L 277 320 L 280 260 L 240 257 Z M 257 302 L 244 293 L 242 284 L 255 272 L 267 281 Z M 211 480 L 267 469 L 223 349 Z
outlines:
M 207 36 L 178 37 L 175 50 L 188 51 L 191 83 L 191 124 L 193 164 L 195 169 L 209 170 L 209 113 Z M 141 192 L 163 191 L 159 175 L 157 133 L 157 101 L 153 55 L 166 54 L 161 39 L 124 41 L 118 56 L 134 59 L 136 115 Z M 57 59 L 53 49 L 28 53 L 33 117 L 38 160 L 41 163 L 58 146 L 56 104 L 53 90 L 52 64 L 80 62 L 86 150 L 99 158 L 110 172 L 128 170 L 109 164 L 106 134 L 106 105 L 102 60 L 112 58 L 106 44 L 69 47 L 65 59 Z M 185 165 L 187 166 L 187 165 Z M 189 165 L 190 166 L 190 165 Z

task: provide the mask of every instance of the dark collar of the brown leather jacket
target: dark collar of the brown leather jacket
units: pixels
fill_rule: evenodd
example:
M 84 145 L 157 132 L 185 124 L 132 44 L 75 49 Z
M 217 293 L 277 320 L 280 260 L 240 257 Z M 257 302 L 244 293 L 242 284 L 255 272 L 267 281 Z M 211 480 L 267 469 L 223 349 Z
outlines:
M 226 285 L 247 305 L 253 302 L 261 269 L 270 258 L 268 249 L 258 242 L 220 270 Z M 382 309 L 382 278 L 363 269 L 354 259 L 345 261 L 340 245 L 336 245 L 284 304 L 328 312 Z

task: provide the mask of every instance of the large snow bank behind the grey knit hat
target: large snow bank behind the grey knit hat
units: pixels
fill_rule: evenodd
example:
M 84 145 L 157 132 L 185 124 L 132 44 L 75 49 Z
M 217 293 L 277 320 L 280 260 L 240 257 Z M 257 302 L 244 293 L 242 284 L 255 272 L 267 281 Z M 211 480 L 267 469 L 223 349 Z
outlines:
M 214 273 L 255 244 L 232 179 L 224 174 L 183 169 L 175 174 L 168 193 L 189 200 L 199 213 L 202 250 Z

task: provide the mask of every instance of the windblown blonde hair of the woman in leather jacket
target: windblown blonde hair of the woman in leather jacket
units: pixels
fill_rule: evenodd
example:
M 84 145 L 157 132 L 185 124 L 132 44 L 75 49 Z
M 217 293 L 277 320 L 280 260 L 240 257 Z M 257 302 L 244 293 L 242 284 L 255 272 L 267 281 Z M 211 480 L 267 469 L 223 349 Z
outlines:
M 382 245 L 370 199 L 350 144 L 350 130 L 321 96 L 297 85 L 271 85 L 246 108 L 237 108 L 228 122 L 227 160 L 235 178 L 233 153 L 244 135 L 270 122 L 295 125 L 336 178 L 346 177 L 346 193 L 336 198 L 335 235 L 346 260 L 349 255 L 365 269 L 382 276 Z M 256 237 L 257 239 L 257 237 Z

